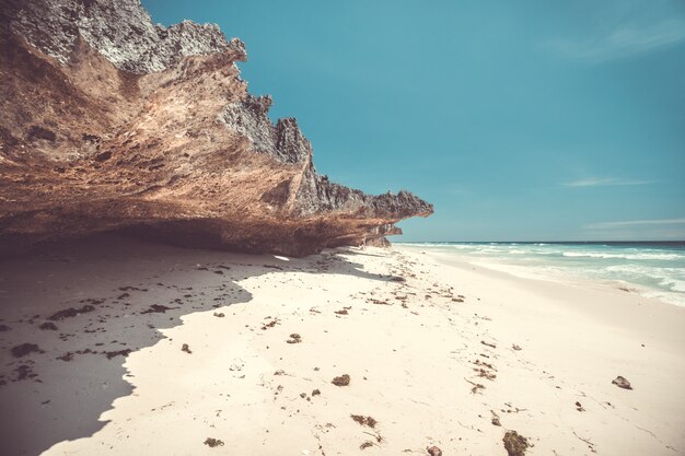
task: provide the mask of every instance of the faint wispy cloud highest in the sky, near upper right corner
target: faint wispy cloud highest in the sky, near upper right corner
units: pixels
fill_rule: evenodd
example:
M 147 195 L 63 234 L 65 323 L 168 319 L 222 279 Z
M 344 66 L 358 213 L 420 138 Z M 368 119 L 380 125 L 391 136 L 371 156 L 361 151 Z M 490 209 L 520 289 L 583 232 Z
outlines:
M 568 58 L 602 62 L 630 57 L 685 40 L 685 20 L 666 19 L 649 25 L 618 25 L 584 39 L 556 39 L 546 47 Z

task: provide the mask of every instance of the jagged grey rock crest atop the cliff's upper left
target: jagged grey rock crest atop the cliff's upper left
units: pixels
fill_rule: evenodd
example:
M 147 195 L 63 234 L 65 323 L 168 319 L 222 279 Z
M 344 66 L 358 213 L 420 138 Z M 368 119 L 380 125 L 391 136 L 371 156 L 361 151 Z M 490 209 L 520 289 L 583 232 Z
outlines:
M 33 46 L 67 63 L 79 36 L 121 70 L 162 71 L 186 56 L 231 50 L 245 58 L 240 39 L 227 42 L 217 25 L 184 21 L 169 28 L 152 23 L 139 0 L 19 0 L 11 28 Z

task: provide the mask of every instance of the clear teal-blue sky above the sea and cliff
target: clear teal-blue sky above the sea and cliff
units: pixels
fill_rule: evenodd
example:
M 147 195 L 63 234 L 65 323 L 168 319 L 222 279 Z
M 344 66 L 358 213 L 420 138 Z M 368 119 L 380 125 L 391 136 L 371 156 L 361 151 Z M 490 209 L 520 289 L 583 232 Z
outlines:
M 682 0 L 142 0 L 217 23 L 334 182 L 436 208 L 395 241 L 685 239 Z

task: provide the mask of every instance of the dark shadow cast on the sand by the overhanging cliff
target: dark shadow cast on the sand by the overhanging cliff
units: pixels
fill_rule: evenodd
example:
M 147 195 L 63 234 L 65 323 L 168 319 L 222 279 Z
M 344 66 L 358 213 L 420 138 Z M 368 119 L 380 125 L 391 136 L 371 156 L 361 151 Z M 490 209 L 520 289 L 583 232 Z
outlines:
M 393 280 L 336 250 L 286 259 L 117 234 L 0 259 L 0 453 L 33 456 L 93 435 L 107 423 L 101 414 L 132 391 L 128 354 L 184 315 L 249 302 L 237 281 L 279 271 Z

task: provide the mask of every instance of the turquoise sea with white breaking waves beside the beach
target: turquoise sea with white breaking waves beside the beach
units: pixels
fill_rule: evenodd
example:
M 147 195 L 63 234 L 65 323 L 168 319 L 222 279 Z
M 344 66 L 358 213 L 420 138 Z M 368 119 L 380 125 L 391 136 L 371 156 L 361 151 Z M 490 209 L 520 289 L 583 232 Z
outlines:
M 685 242 L 404 243 L 514 276 L 595 280 L 685 306 Z

